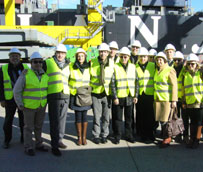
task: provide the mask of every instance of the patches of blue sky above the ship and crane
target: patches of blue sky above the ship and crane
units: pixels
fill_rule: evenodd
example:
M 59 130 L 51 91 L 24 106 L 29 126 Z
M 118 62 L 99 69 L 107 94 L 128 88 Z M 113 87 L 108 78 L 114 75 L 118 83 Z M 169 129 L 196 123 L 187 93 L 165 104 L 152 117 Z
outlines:
M 67 9 L 76 9 L 77 4 L 80 3 L 80 0 L 48 0 L 49 7 L 51 4 L 57 3 L 59 1 L 59 8 L 67 8 Z M 86 0 L 87 3 L 88 0 Z M 104 6 L 112 5 L 114 7 L 122 7 L 123 0 L 104 0 Z M 191 0 L 192 8 L 194 11 L 203 11 L 203 3 L 202 0 Z

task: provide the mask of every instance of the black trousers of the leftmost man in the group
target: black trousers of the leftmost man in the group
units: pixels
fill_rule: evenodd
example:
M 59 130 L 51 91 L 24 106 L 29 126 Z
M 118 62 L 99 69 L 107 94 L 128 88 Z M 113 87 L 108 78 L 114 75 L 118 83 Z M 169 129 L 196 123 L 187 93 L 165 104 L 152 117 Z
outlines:
M 5 111 L 6 116 L 4 120 L 3 130 L 4 130 L 4 142 L 9 143 L 12 139 L 12 125 L 14 115 L 17 110 L 17 105 L 15 103 L 6 103 Z M 23 137 L 23 127 L 24 127 L 24 119 L 23 119 L 23 112 L 18 109 L 18 118 L 19 118 L 19 127 L 21 131 L 21 137 Z

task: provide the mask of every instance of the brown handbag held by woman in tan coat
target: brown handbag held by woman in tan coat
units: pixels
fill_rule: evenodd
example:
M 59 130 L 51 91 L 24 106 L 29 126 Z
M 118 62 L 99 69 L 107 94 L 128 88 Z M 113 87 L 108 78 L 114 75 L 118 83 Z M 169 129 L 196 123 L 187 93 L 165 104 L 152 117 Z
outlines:
M 183 134 L 183 131 L 185 130 L 183 120 L 182 118 L 178 118 L 177 114 L 177 107 L 171 109 L 169 121 L 165 127 L 165 132 L 167 132 L 165 134 L 167 134 L 168 137 L 176 137 L 179 134 Z

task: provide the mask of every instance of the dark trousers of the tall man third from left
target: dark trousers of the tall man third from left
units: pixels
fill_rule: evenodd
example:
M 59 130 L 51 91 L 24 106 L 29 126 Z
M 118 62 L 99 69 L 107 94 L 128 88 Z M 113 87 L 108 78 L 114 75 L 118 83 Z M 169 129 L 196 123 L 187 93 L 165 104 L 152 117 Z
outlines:
M 69 99 L 55 99 L 48 101 L 52 148 L 58 148 L 59 141 L 62 141 L 64 137 L 68 104 Z

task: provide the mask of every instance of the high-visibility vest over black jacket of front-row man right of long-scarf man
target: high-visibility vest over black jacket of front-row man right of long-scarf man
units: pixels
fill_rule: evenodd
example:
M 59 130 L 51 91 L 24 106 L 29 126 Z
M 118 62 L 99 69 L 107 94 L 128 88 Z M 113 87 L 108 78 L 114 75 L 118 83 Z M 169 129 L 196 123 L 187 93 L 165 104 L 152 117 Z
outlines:
M 135 96 L 136 67 L 128 63 L 125 71 L 121 63 L 115 64 L 116 94 L 118 98 Z

